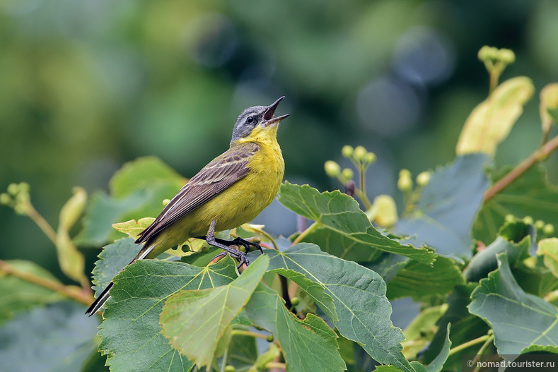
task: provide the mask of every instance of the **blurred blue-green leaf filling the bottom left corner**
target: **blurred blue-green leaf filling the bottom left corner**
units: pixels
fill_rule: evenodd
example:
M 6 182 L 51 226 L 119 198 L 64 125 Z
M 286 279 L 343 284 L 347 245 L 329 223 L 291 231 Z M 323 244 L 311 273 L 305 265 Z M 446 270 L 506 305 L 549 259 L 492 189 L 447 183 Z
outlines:
M 64 301 L 18 313 L 0 328 L 0 371 L 75 372 L 95 350 L 96 318 Z

